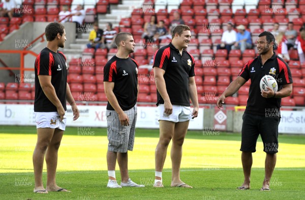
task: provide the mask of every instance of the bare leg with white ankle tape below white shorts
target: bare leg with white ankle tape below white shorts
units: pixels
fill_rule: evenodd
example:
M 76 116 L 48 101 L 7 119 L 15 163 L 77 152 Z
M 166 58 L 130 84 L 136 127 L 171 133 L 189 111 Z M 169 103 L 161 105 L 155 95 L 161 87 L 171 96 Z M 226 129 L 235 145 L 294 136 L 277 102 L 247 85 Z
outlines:
M 155 168 L 157 172 L 162 172 L 166 158 L 167 147 L 174 135 L 175 123 L 160 120 L 159 126 L 160 138 L 155 152 Z M 155 176 L 155 179 L 160 180 L 160 182 L 157 183 L 161 184 L 161 177 Z

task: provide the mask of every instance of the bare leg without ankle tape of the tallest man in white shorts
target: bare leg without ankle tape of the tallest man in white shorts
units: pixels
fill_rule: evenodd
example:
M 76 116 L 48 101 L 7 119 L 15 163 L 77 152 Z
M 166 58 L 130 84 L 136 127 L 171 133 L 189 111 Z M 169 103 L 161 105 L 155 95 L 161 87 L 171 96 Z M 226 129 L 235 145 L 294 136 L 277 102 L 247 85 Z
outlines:
M 183 183 L 180 180 L 180 164 L 182 158 L 182 144 L 188 132 L 189 122 L 178 122 L 175 124 L 173 143 L 171 148 L 171 161 L 172 161 L 172 180 L 171 186 L 177 186 Z

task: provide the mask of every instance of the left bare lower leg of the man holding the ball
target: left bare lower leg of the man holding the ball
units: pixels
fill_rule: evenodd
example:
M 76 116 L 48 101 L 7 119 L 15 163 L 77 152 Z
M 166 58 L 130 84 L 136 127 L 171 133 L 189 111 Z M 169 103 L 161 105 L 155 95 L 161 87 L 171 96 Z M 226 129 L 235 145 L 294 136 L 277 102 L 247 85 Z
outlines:
M 253 163 L 252 152 L 244 152 L 241 153 L 241 163 L 243 169 L 243 176 L 245 176 L 245 180 L 242 185 L 238 187 L 239 189 L 250 189 L 250 176 L 251 176 L 251 167 Z

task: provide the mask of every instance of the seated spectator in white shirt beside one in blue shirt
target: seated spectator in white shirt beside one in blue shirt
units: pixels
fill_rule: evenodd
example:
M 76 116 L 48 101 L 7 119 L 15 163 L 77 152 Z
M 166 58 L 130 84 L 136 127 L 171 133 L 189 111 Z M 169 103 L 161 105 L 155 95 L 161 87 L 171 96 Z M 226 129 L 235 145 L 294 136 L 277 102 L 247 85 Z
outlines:
M 232 45 L 236 42 L 236 31 L 233 30 L 234 25 L 228 22 L 227 30 L 223 33 L 221 37 L 221 44 L 217 45 L 217 50 L 226 49 L 228 53 L 231 51 Z

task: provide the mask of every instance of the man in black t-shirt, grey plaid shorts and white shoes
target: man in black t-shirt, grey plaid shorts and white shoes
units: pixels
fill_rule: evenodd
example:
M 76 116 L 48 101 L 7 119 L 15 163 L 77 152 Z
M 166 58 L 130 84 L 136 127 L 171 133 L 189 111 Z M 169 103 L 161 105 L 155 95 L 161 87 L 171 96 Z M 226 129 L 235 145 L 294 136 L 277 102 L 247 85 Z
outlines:
M 128 175 L 128 153 L 133 150 L 137 121 L 138 64 L 129 57 L 135 43 L 131 33 L 120 32 L 115 37 L 117 53 L 104 67 L 104 88 L 108 99 L 107 167 L 109 188 L 144 187 L 133 182 Z M 119 166 L 121 183 L 115 179 L 115 164 Z

